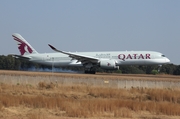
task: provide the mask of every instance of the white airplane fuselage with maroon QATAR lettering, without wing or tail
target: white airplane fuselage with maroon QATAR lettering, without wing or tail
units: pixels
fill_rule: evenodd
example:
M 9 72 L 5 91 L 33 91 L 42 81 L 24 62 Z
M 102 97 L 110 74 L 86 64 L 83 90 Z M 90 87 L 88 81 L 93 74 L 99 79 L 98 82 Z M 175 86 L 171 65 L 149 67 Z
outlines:
M 170 63 L 162 53 L 154 51 L 106 51 L 106 52 L 74 52 L 81 55 L 111 59 L 120 65 L 162 65 Z M 39 53 L 26 55 L 32 62 L 54 66 L 83 66 L 81 62 L 62 53 Z

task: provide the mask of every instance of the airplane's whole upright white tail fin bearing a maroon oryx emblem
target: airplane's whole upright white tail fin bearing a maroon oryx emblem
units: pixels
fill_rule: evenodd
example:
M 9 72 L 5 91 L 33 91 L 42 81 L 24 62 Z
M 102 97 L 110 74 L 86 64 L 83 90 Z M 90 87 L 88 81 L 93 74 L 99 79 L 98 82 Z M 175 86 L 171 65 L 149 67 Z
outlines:
M 17 42 L 21 55 L 37 54 L 38 52 L 18 33 L 14 33 L 13 39 Z

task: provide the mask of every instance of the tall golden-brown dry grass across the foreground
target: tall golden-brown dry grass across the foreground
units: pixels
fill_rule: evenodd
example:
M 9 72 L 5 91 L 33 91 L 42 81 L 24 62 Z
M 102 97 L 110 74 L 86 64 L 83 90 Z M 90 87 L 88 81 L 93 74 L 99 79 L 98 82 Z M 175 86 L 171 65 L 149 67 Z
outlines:
M 87 86 L 59 86 L 40 82 L 37 87 L 1 84 L 0 107 L 57 109 L 67 117 L 126 117 L 132 112 L 180 116 L 180 91 L 167 89 L 113 89 Z M 65 92 L 66 91 L 66 92 Z M 62 116 L 62 114 L 61 114 Z M 41 119 L 43 115 L 31 114 Z

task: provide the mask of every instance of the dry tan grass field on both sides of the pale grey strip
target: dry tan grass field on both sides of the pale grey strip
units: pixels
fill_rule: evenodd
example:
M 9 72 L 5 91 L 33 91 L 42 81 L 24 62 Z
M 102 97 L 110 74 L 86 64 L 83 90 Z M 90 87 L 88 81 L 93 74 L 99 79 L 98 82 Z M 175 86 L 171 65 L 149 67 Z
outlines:
M 45 82 L 50 76 L 95 79 L 146 79 L 173 80 L 179 76 L 169 75 L 117 75 L 117 74 L 68 74 L 0 71 L 0 118 L 3 119 L 179 119 L 180 90 L 131 88 L 116 89 L 89 85 L 65 85 Z M 37 85 L 9 84 L 11 76 L 33 77 Z M 1 82 L 3 80 L 3 82 Z

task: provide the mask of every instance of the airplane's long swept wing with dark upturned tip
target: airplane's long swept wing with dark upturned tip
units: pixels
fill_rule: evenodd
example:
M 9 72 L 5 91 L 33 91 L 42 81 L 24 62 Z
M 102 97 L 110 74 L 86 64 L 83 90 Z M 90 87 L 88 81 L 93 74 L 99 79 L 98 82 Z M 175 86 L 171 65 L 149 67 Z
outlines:
M 91 56 L 86 56 L 86 55 L 81 55 L 81 54 L 76 54 L 76 53 L 71 53 L 71 52 L 66 52 L 66 51 L 62 51 L 62 50 L 58 50 L 56 49 L 54 46 L 48 44 L 49 47 L 56 51 L 56 52 L 60 52 L 60 53 L 63 53 L 63 54 L 66 54 L 66 55 L 69 55 L 69 57 L 73 58 L 73 59 L 76 59 L 78 60 L 78 62 L 93 62 L 93 63 L 98 63 L 99 61 L 99 58 L 95 58 L 95 57 L 91 57 Z

